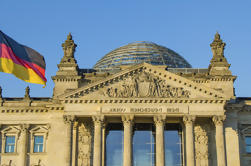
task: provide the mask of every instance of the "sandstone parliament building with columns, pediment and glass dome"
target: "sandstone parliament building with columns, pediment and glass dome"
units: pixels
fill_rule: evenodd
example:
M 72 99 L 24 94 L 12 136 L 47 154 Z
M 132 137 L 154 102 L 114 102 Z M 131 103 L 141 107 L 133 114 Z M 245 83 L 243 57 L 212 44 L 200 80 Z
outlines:
M 0 165 L 250 166 L 251 98 L 235 96 L 225 43 L 212 39 L 205 68 L 135 42 L 81 69 L 69 34 L 52 97 L 0 89 Z

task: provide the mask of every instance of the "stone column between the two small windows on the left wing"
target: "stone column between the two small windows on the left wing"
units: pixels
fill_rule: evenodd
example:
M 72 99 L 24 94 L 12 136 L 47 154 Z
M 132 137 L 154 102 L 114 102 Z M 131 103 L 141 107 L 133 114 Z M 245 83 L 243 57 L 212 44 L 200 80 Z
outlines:
M 22 124 L 21 125 L 21 135 L 20 135 L 20 144 L 19 144 L 19 153 L 20 158 L 18 161 L 18 164 L 20 165 L 26 165 L 27 161 L 27 142 L 28 142 L 28 124 Z

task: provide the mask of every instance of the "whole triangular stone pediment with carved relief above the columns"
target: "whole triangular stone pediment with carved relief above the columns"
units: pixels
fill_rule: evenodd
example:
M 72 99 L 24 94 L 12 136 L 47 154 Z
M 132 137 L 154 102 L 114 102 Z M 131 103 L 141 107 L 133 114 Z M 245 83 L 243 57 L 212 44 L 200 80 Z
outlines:
M 197 98 L 226 96 L 212 88 L 147 63 L 129 67 L 103 80 L 68 92 L 59 98 Z

